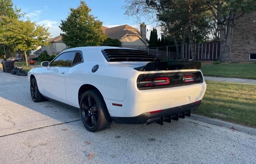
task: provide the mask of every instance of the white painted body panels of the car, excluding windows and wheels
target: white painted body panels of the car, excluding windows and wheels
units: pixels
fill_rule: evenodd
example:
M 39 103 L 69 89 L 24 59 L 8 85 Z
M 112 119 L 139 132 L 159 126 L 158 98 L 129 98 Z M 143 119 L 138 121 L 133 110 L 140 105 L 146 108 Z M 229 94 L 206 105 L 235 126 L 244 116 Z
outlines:
M 139 90 L 137 78 L 140 74 L 200 71 L 183 69 L 169 71 L 137 71 L 134 67 L 148 62 L 108 62 L 102 49 L 120 47 L 76 47 L 67 51 L 82 51 L 83 63 L 72 67 L 38 67 L 28 72 L 36 77 L 42 95 L 79 108 L 78 91 L 82 85 L 96 87 L 102 94 L 111 117 L 135 117 L 142 113 L 164 110 L 202 100 L 206 83 Z M 126 48 L 127 49 L 127 48 Z M 92 67 L 99 65 L 92 73 Z M 201 72 L 201 71 L 200 71 Z M 112 103 L 122 104 L 122 107 Z

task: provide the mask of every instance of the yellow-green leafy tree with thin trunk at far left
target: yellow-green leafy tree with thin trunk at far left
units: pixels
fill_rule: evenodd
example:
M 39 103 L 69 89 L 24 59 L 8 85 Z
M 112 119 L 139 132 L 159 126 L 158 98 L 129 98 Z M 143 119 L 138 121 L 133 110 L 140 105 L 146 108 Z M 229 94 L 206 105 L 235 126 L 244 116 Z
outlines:
M 0 40 L 5 45 L 15 47 L 24 52 L 26 65 L 28 66 L 27 51 L 36 49 L 38 45 L 48 45 L 50 33 L 44 26 L 36 25 L 30 20 L 22 21 L 18 19 L 10 20 L 6 29 L 0 34 Z

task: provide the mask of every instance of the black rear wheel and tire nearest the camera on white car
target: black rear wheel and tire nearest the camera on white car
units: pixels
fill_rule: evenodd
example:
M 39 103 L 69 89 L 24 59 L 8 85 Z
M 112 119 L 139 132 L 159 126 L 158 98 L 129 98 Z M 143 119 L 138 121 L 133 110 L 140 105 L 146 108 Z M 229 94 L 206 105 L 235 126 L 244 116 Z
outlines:
M 102 95 L 96 90 L 86 91 L 80 101 L 80 116 L 90 132 L 108 128 L 112 122 Z

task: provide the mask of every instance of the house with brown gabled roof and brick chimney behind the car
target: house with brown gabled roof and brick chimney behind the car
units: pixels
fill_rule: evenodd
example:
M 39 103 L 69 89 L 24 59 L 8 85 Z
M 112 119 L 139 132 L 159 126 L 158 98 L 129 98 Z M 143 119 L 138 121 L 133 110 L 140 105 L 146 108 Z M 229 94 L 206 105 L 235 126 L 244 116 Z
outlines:
M 127 24 L 107 28 L 102 26 L 102 31 L 112 39 L 118 39 L 122 42 L 122 47 L 134 49 L 146 49 L 148 39 L 146 38 L 146 25 L 140 25 L 140 31 Z

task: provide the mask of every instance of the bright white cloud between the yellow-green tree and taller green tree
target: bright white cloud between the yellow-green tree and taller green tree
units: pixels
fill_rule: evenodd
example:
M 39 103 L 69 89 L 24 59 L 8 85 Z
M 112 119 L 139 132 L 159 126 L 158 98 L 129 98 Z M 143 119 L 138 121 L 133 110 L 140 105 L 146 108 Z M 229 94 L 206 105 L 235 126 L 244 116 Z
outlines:
M 52 20 L 42 20 L 40 22 L 37 22 L 38 25 L 49 28 L 49 32 L 51 33 L 52 38 L 59 36 L 61 33 L 61 30 L 59 28 L 59 22 L 57 21 L 52 21 Z

